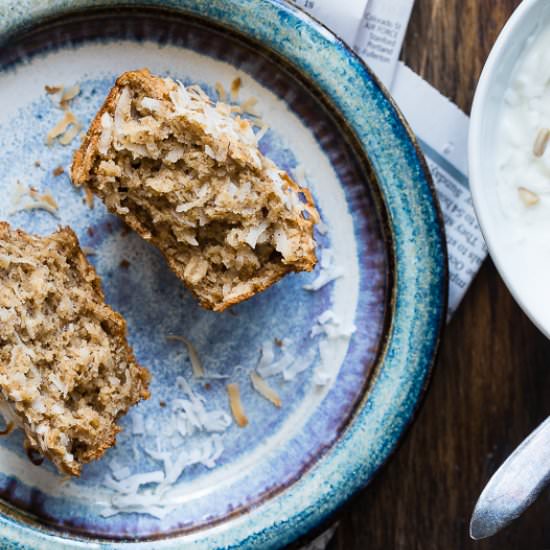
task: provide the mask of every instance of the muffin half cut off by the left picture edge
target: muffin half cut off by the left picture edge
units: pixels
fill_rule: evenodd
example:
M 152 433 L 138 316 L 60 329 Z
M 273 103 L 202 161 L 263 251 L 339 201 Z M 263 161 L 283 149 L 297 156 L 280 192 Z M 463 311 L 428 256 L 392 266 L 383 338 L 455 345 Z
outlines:
M 148 371 L 74 232 L 0 222 L 0 412 L 29 452 L 79 475 L 115 444 L 117 419 L 149 397 Z

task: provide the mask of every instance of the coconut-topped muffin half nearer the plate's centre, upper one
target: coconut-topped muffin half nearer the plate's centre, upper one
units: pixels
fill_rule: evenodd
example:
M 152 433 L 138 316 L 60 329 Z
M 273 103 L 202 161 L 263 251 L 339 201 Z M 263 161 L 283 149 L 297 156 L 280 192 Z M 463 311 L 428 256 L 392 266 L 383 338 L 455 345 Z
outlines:
M 198 86 L 124 73 L 72 179 L 156 245 L 208 309 L 315 266 L 311 194 L 261 154 L 248 120 Z

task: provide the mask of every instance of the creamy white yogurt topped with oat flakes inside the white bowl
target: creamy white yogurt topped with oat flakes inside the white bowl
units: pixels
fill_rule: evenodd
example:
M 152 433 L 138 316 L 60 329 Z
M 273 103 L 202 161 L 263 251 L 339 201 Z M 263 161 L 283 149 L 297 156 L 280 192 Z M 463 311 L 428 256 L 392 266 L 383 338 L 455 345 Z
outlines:
M 499 245 L 506 248 L 504 271 L 521 289 L 521 301 L 539 326 L 549 327 L 550 140 L 541 156 L 533 151 L 539 132 L 546 128 L 550 129 L 550 27 L 528 41 L 504 97 L 494 155 L 495 206 L 500 212 L 493 216 Z M 527 205 L 521 188 L 538 202 Z

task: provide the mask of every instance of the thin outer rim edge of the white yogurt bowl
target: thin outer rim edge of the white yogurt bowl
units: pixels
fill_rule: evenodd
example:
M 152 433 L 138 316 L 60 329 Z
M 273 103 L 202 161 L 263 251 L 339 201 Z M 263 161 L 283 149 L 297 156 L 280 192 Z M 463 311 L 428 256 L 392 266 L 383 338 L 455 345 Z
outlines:
M 550 325 L 546 326 L 540 319 L 538 319 L 536 314 L 531 311 L 529 305 L 523 299 L 521 289 L 515 286 L 508 277 L 506 268 L 501 260 L 502 256 L 498 252 L 498 247 L 496 245 L 497 239 L 494 237 L 490 216 L 488 215 L 488 208 L 483 197 L 484 179 L 482 174 L 482 166 L 485 162 L 485 157 L 481 154 L 481 151 L 484 150 L 482 127 L 485 106 L 489 101 L 494 74 L 498 69 L 504 49 L 509 41 L 513 39 L 516 29 L 523 24 L 524 20 L 529 17 L 530 11 L 539 3 L 541 3 L 540 0 L 523 0 L 523 2 L 517 6 L 500 31 L 497 40 L 493 44 L 489 56 L 487 57 L 487 61 L 483 66 L 470 114 L 470 129 L 468 133 L 468 171 L 470 179 L 470 192 L 472 194 L 474 209 L 481 232 L 485 239 L 485 244 L 489 250 L 491 260 L 495 264 L 500 277 L 504 281 L 506 288 L 514 298 L 515 302 L 520 306 L 530 321 L 547 338 L 550 338 Z

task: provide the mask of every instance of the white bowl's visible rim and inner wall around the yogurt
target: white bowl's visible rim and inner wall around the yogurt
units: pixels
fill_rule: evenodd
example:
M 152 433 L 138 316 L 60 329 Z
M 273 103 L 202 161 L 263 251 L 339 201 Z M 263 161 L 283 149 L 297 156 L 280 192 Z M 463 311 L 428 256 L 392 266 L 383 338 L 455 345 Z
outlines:
M 515 300 L 547 337 L 550 337 L 550 252 L 537 254 L 529 247 L 518 246 L 517 228 L 506 216 L 497 193 L 495 152 L 499 114 L 514 69 L 531 38 L 549 25 L 548 0 L 524 0 L 516 9 L 481 74 L 469 136 L 470 187 L 489 253 Z M 550 188 L 550 178 L 548 184 Z M 548 243 L 550 251 L 550 233 Z

